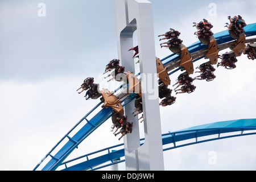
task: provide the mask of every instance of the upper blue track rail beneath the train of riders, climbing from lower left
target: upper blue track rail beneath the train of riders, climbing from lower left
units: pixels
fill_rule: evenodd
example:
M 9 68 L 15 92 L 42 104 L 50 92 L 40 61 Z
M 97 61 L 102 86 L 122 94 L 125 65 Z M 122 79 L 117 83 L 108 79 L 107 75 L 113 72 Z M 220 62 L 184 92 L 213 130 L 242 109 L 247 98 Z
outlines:
M 247 26 L 244 28 L 245 29 L 245 34 L 246 37 L 249 36 L 254 36 L 256 35 L 256 23 L 252 23 L 252 24 L 247 24 Z M 233 39 L 230 35 L 229 35 L 229 31 L 225 30 L 225 31 L 221 31 L 218 32 L 217 34 L 214 34 L 214 38 L 217 41 L 217 44 L 223 44 L 223 43 L 227 43 L 230 42 Z M 193 43 L 191 46 L 188 47 L 188 50 L 190 53 L 194 53 L 197 51 L 200 51 L 202 49 L 208 48 L 207 45 L 202 44 L 200 41 Z M 178 59 L 180 57 L 180 55 L 176 55 L 176 54 L 171 54 L 170 56 L 165 57 L 164 59 L 162 59 L 161 61 L 163 62 L 164 65 L 171 63 L 172 61 Z M 193 60 L 193 61 L 197 61 L 202 57 L 198 57 L 197 59 Z M 177 70 L 179 70 L 179 68 L 177 68 L 175 71 L 169 73 L 169 75 L 171 75 L 172 73 L 176 72 Z M 120 86 L 119 88 L 117 88 L 115 92 L 117 92 L 117 90 L 121 89 L 122 86 Z M 134 99 L 134 96 L 131 95 L 130 97 L 126 98 L 128 101 L 126 102 L 129 103 L 131 100 Z M 41 162 L 34 168 L 34 170 L 36 170 L 44 161 L 44 159 L 51 157 L 51 160 L 49 160 L 49 162 L 46 164 L 46 166 L 43 167 L 42 170 L 55 170 L 57 167 L 60 166 L 61 163 L 63 163 L 63 161 L 67 158 L 67 156 L 69 154 L 71 154 L 71 152 L 86 138 L 88 137 L 94 130 L 97 129 L 97 127 L 99 127 L 102 123 L 104 123 L 106 120 L 108 120 L 111 116 L 112 116 L 112 109 L 110 107 L 108 107 L 107 109 L 102 109 L 101 111 L 99 111 L 96 115 L 94 115 L 94 117 L 90 120 L 86 119 L 88 117 L 89 114 L 91 114 L 95 109 L 97 109 L 98 106 L 100 106 L 102 104 L 102 102 L 100 102 L 98 105 L 96 105 L 91 111 L 89 111 L 88 114 L 85 115 L 85 117 L 83 117 L 61 140 L 60 142 L 58 142 L 56 144 L 55 147 L 52 148 L 51 151 L 48 152 L 48 154 L 41 160 Z M 124 107 L 125 105 L 123 105 Z M 84 125 L 84 127 L 82 127 L 82 129 L 80 129 L 73 137 L 69 137 L 69 134 L 82 122 L 86 120 L 86 124 Z M 55 150 L 55 148 L 57 146 L 59 146 L 59 144 L 61 142 L 63 142 L 63 140 L 65 138 L 68 138 L 69 141 L 64 145 L 63 148 L 61 148 L 59 150 L 59 152 L 57 152 L 54 156 L 52 155 L 53 150 Z

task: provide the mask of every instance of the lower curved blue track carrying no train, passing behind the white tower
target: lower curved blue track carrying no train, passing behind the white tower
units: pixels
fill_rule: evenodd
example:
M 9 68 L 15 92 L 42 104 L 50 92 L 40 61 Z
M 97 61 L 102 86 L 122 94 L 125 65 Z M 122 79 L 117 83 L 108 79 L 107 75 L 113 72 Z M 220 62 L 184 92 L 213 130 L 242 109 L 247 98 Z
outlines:
M 218 139 L 254 135 L 256 134 L 256 131 L 251 133 L 244 133 L 244 131 L 253 131 L 253 130 L 256 130 L 256 119 L 237 119 L 232 121 L 214 122 L 214 123 L 209 123 L 207 125 L 193 126 L 188 129 L 183 129 L 175 132 L 170 132 L 167 134 L 162 134 L 163 146 L 167 144 L 173 145 L 172 147 L 163 148 L 163 151 L 171 150 L 178 147 L 184 147 L 192 144 L 197 144 L 197 143 L 210 142 Z M 234 132 L 240 132 L 240 134 L 237 134 L 237 133 L 234 134 Z M 229 135 L 225 135 L 221 137 L 221 134 L 226 134 L 226 133 L 228 133 Z M 205 137 L 209 135 L 217 135 L 217 137 L 208 138 L 208 139 L 200 138 L 200 137 Z M 187 142 L 185 144 L 179 144 L 179 142 L 188 140 L 188 139 L 195 139 L 195 140 L 192 142 Z M 144 139 L 141 139 L 141 145 L 143 143 L 144 143 Z M 115 150 L 114 152 L 110 152 L 110 150 L 113 150 L 120 146 L 123 146 L 123 144 L 118 144 L 117 146 L 104 148 L 102 150 L 81 156 L 80 158 L 69 160 L 61 164 L 61 165 L 65 165 L 65 168 L 63 169 L 63 171 L 81 171 L 81 170 L 88 170 L 88 169 L 96 170 L 96 169 L 104 168 L 106 166 L 111 166 L 116 163 L 124 162 L 125 160 L 113 162 L 114 159 L 122 158 L 123 156 L 125 156 L 124 148 Z M 96 158 L 89 159 L 90 156 L 95 155 L 98 152 L 104 152 L 104 151 L 106 153 L 105 155 L 101 155 Z M 67 167 L 69 163 L 82 158 L 84 158 L 84 162 Z M 100 164 L 104 164 L 107 162 L 110 162 L 110 163 L 98 167 Z

